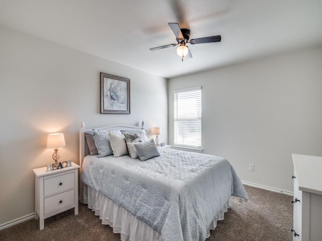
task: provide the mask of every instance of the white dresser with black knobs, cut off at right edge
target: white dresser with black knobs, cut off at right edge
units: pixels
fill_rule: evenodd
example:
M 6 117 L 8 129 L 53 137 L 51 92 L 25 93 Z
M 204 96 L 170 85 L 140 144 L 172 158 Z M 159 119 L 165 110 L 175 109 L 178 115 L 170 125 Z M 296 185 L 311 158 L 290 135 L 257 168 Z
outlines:
M 293 240 L 322 240 L 322 157 L 292 154 Z

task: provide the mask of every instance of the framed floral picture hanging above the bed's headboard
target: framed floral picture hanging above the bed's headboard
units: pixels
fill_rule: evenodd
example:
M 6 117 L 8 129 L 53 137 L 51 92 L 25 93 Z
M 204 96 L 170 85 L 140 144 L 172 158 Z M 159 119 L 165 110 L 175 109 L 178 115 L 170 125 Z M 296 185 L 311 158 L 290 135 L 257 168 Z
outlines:
M 131 113 L 130 79 L 101 73 L 101 113 Z

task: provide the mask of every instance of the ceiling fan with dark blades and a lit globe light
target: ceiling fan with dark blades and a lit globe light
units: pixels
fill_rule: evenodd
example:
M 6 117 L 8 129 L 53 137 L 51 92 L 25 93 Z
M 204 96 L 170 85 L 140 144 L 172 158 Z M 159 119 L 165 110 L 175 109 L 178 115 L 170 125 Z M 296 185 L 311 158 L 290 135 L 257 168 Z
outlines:
M 177 23 L 169 23 L 168 25 L 171 28 L 172 32 L 175 34 L 177 43 L 151 48 L 150 49 L 151 51 L 174 47 L 179 44 L 179 47 L 177 48 L 177 54 L 180 57 L 182 57 L 182 61 L 183 61 L 184 57 L 186 59 L 192 58 L 192 54 L 191 54 L 188 46 L 186 46 L 186 44 L 189 44 L 189 43 L 190 44 L 205 44 L 205 43 L 215 43 L 215 42 L 221 41 L 220 35 L 189 40 L 190 29 L 180 29 L 179 24 L 177 24 Z

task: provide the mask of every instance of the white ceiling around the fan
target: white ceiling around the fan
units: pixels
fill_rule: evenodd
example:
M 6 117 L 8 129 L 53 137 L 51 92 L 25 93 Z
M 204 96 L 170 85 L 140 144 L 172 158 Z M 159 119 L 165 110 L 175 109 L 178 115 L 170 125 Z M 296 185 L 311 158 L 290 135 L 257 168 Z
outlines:
M 181 61 L 168 23 L 190 27 Z M 322 0 L 0 0 L 0 25 L 166 78 L 322 44 Z

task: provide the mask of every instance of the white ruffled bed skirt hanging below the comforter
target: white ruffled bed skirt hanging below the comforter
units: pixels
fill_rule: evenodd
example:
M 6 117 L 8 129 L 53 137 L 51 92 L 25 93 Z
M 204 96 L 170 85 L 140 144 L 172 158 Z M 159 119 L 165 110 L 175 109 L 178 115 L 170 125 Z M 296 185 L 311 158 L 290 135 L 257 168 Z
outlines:
M 122 241 L 161 241 L 160 234 L 149 225 L 86 184 L 83 184 L 83 203 L 100 216 L 102 224 L 110 225 L 113 232 L 120 233 Z M 214 217 L 207 230 L 207 237 L 210 236 L 210 229 L 214 230 L 217 226 L 217 221 L 223 220 L 229 207 L 230 199 Z

